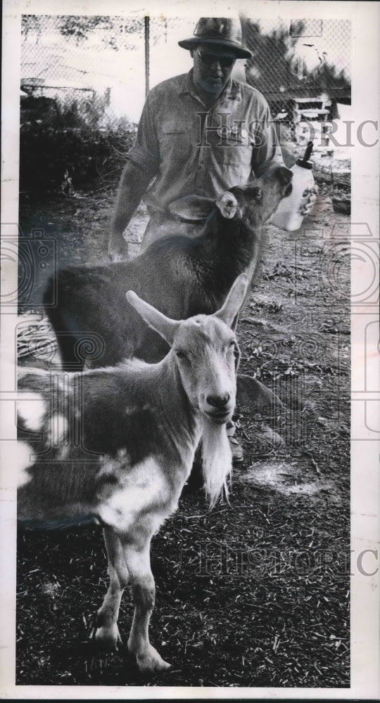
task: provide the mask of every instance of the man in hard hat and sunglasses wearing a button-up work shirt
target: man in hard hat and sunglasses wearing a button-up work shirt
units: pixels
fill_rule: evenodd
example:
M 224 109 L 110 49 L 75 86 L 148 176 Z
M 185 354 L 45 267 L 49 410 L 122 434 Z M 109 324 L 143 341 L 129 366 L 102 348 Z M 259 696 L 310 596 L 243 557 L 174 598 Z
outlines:
M 194 236 L 194 226 L 172 219 L 168 205 L 184 195 L 217 198 L 273 165 L 284 165 L 267 101 L 232 79 L 236 58 L 249 58 L 239 18 L 198 20 L 194 36 L 179 41 L 194 66 L 160 83 L 146 98 L 137 140 L 127 153 L 108 247 L 127 258 L 123 232 L 141 198 L 151 216 L 143 249 L 170 234 Z M 230 435 L 234 427 L 227 430 Z M 234 462 L 243 452 L 231 437 Z

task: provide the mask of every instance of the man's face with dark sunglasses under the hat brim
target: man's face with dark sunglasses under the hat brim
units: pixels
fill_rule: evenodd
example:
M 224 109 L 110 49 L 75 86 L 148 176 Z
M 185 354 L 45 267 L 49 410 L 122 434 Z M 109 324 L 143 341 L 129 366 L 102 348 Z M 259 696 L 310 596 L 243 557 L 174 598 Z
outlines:
M 234 51 L 217 44 L 199 44 L 191 51 L 194 81 L 208 93 L 220 93 L 232 74 Z

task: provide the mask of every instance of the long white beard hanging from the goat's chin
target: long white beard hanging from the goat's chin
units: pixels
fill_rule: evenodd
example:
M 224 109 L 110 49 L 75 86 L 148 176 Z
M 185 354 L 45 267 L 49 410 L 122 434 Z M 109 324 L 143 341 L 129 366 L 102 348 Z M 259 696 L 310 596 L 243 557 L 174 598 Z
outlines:
M 201 426 L 203 480 L 211 510 L 223 491 L 228 500 L 227 481 L 232 470 L 232 454 L 226 425 L 215 425 L 202 417 Z

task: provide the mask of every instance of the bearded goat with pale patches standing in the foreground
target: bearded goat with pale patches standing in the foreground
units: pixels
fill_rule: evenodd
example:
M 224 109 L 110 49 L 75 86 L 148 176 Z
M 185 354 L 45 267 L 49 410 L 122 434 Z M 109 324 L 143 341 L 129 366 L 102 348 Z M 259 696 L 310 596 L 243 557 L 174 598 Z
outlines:
M 186 321 L 167 318 L 129 291 L 129 303 L 170 345 L 157 364 L 132 360 L 59 373 L 53 384 L 46 371 L 20 375 L 18 517 L 51 527 L 92 515 L 103 525 L 110 586 L 96 639 L 117 647 L 120 600 L 130 581 L 128 647 L 146 673 L 170 666 L 148 639 L 151 538 L 177 508 L 200 439 L 210 505 L 227 491 L 225 423 L 234 411 L 239 360 L 231 325 L 247 285 L 242 274 L 219 311 Z

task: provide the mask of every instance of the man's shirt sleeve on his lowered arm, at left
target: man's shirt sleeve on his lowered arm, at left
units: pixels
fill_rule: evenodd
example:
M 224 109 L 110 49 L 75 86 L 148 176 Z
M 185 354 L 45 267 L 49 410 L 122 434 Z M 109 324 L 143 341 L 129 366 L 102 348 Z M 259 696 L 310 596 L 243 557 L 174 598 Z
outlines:
M 153 103 L 153 100 L 148 96 L 141 113 L 136 142 L 129 149 L 127 159 L 137 163 L 153 178 L 160 167 L 160 158 L 156 124 L 152 117 L 153 105 L 151 103 Z

